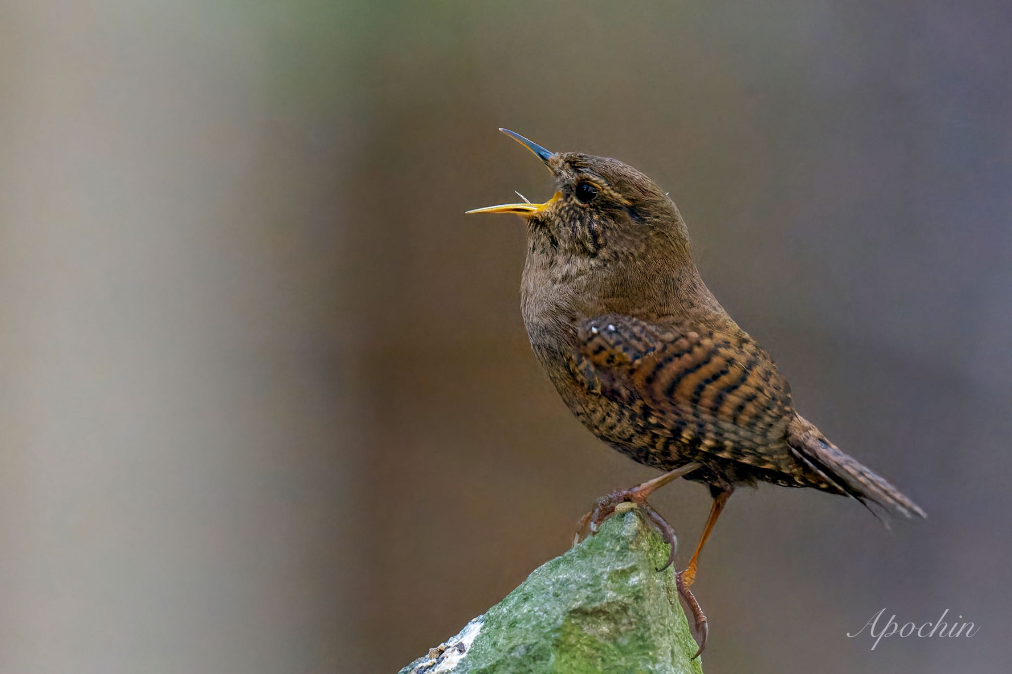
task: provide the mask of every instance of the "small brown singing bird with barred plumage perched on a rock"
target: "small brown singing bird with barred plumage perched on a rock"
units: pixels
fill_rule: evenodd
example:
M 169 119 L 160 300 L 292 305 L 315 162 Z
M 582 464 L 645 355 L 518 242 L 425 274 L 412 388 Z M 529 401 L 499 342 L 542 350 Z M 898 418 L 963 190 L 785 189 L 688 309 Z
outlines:
M 926 516 L 797 413 L 769 353 L 703 283 L 685 221 L 667 192 L 617 160 L 554 153 L 499 130 L 533 153 L 556 187 L 544 203 L 520 195 L 522 203 L 467 211 L 526 221 L 520 305 L 534 355 L 597 438 L 664 471 L 597 499 L 580 520 L 578 539 L 594 534 L 619 504 L 632 503 L 670 546 L 664 570 L 675 561 L 677 537 L 648 497 L 677 478 L 709 488 L 702 535 L 676 573 L 694 619 L 696 657 L 709 627 L 690 588 L 699 554 L 737 486 L 807 487 L 853 498 L 873 513 L 877 507 Z

